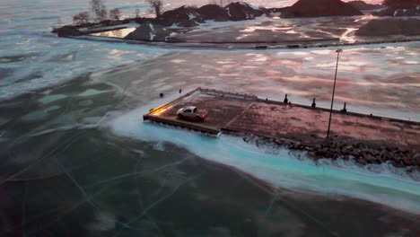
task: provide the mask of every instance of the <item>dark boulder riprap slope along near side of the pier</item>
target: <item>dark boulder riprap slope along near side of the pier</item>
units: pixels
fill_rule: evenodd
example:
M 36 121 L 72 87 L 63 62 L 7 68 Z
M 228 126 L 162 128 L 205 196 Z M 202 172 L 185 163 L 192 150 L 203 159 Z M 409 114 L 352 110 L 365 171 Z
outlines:
M 245 136 L 243 140 L 258 146 L 272 144 L 290 150 L 304 151 L 315 161 L 343 159 L 352 160 L 360 165 L 389 162 L 394 167 L 407 168 L 408 172 L 420 171 L 420 150 L 414 147 L 380 145 L 354 139 L 325 140 L 311 145 L 288 139 L 269 139 L 258 136 Z

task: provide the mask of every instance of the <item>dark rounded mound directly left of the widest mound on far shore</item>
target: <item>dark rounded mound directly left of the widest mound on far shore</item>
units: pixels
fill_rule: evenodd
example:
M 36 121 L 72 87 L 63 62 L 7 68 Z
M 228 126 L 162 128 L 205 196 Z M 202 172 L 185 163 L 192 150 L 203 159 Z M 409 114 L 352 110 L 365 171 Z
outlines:
M 224 10 L 231 21 L 252 20 L 264 13 L 258 7 L 253 7 L 244 2 L 228 4 L 224 7 Z

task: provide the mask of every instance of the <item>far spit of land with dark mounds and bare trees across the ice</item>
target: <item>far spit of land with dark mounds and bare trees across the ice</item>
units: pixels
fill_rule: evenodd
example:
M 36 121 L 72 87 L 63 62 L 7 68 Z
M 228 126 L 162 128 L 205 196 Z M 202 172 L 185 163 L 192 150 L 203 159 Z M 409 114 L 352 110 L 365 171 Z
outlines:
M 289 7 L 257 8 L 246 3 L 231 3 L 224 8 L 216 4 L 200 8 L 183 5 L 156 18 L 66 24 L 51 32 L 65 38 L 179 48 L 327 48 L 420 41 L 416 33 L 358 35 L 378 18 L 370 12 L 358 12 L 354 6 L 347 7 L 355 12 L 292 16 L 283 14 Z M 235 10 L 232 15 L 231 8 Z M 223 24 L 212 28 L 212 22 Z M 337 25 L 331 27 L 332 22 Z

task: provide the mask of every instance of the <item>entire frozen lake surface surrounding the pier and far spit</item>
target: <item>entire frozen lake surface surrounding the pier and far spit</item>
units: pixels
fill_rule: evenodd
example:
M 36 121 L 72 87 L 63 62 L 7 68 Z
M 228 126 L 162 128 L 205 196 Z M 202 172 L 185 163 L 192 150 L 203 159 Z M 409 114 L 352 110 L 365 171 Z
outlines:
M 107 4 L 146 12 L 134 0 Z M 198 86 L 328 107 L 337 48 L 168 49 L 50 35 L 87 7 L 0 4 L 0 235 L 419 235 L 420 184 L 402 169 L 315 164 L 140 119 Z M 337 109 L 346 101 L 419 121 L 419 46 L 345 48 Z

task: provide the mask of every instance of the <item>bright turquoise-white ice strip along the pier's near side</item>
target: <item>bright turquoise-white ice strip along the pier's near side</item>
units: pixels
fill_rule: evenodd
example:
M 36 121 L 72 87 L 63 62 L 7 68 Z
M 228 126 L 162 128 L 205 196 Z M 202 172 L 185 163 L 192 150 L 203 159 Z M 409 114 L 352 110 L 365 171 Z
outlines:
M 419 184 L 396 174 L 387 165 L 377 167 L 381 169 L 379 173 L 353 163 L 343 163 L 343 168 L 328 162 L 316 165 L 296 159 L 297 154 L 286 149 L 274 153 L 264 151 L 245 144 L 240 137 L 200 136 L 179 128 L 143 123 L 141 116 L 160 103 L 156 101 L 114 118 L 107 126 L 118 136 L 159 142 L 156 147 L 162 141 L 179 145 L 202 158 L 245 171 L 277 187 L 362 198 L 420 214 Z

